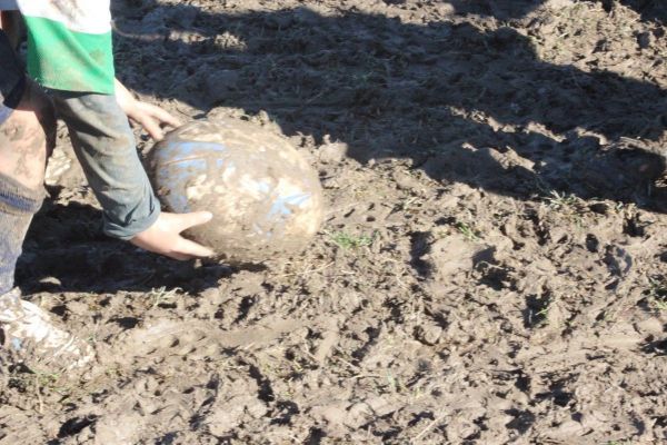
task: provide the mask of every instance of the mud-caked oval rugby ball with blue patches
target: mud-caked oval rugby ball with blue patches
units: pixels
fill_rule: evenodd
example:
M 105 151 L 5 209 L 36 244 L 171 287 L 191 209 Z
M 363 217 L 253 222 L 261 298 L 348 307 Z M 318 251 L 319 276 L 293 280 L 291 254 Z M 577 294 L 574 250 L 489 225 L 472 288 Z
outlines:
M 185 236 L 228 263 L 258 263 L 303 249 L 323 216 L 316 170 L 289 141 L 248 121 L 193 121 L 158 142 L 149 174 L 166 210 L 208 210 Z

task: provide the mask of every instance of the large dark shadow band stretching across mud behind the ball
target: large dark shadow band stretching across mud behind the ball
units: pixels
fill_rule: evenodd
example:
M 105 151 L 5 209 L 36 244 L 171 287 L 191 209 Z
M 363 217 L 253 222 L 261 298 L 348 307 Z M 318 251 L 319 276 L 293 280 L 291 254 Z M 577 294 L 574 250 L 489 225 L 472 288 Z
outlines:
M 511 19 L 541 1 L 458 3 L 461 14 Z M 289 136 L 344 141 L 361 162 L 411 159 L 438 180 L 656 207 L 650 185 L 664 158 L 650 142 L 665 127 L 666 91 L 544 62 L 512 28 L 342 10 L 219 14 L 153 1 L 116 9 L 119 76 L 142 93 L 205 112 L 265 110 Z

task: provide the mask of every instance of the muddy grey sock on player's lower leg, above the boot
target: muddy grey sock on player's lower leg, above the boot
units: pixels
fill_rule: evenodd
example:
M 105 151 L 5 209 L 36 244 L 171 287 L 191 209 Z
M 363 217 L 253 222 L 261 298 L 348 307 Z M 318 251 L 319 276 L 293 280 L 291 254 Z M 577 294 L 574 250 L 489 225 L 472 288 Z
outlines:
M 0 297 L 13 287 L 14 268 L 44 190 L 32 190 L 0 174 Z

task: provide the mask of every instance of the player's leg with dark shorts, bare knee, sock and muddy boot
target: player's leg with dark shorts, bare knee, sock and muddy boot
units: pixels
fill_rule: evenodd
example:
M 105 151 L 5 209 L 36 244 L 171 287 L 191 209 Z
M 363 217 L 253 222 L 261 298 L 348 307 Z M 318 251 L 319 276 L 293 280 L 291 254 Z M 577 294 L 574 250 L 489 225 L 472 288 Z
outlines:
M 71 368 L 92 358 L 90 346 L 54 327 L 13 288 L 17 259 L 41 206 L 44 166 L 53 146 L 52 107 L 22 76 L 0 30 L 0 364 Z

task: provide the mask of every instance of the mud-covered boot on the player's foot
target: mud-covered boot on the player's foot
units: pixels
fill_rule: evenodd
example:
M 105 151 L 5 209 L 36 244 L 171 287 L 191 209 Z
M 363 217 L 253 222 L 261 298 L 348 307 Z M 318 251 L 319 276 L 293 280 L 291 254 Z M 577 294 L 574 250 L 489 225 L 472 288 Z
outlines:
M 82 368 L 94 356 L 86 342 L 53 326 L 51 317 L 18 289 L 0 296 L 1 354 L 10 364 L 31 370 L 61 372 Z

